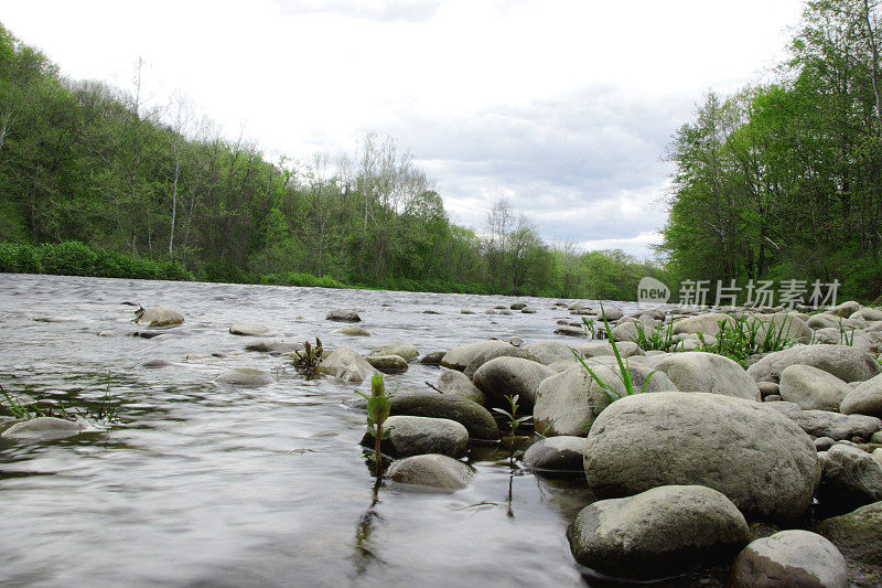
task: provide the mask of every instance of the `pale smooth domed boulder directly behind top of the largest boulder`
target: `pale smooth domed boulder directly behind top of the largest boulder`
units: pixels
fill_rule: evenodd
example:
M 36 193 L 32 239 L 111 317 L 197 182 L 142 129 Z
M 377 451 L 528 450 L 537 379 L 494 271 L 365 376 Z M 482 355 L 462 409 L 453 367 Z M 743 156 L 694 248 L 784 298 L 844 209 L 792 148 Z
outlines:
M 677 353 L 655 364 L 677 389 L 760 400 L 760 388 L 739 364 L 714 353 Z

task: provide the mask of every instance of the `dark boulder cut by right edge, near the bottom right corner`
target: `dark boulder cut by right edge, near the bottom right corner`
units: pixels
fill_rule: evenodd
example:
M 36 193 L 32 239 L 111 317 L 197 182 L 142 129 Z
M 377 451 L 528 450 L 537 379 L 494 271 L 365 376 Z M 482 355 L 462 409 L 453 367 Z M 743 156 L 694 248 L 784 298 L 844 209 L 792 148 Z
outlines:
M 882 502 L 874 502 L 841 516 L 819 523 L 824 535 L 849 560 L 882 566 Z

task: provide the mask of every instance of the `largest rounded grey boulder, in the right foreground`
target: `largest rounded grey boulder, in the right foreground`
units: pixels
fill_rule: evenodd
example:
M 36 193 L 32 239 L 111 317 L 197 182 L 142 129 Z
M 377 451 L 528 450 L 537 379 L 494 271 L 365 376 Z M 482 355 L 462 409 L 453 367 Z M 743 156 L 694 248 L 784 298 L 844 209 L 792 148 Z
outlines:
M 795 423 L 760 403 L 707 393 L 613 403 L 591 428 L 584 466 L 598 498 L 700 484 L 774 521 L 802 517 L 820 479 L 811 438 Z

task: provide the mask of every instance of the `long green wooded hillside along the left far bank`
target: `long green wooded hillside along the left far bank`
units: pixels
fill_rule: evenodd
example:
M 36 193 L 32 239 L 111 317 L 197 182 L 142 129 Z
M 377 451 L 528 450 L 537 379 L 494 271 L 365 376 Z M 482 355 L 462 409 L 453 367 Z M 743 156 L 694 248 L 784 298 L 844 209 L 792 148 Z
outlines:
M 112 275 L 95 264 L 116 268 L 107 252 L 122 252 L 233 282 L 634 298 L 658 271 L 619 250 L 550 246 L 505 200 L 481 233 L 459 226 L 390 138 L 334 160 L 269 161 L 182 96 L 148 106 L 135 70 L 128 90 L 71 81 L 0 25 L 0 258 L 20 258 L 6 270 L 40 269 L 40 249 L 13 244 L 43 246 L 44 265 L 63 270 L 60 256 L 85 249 L 51 245 L 78 242 L 98 254 L 71 272 Z

